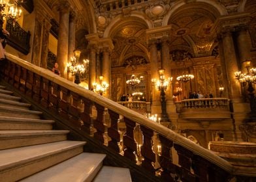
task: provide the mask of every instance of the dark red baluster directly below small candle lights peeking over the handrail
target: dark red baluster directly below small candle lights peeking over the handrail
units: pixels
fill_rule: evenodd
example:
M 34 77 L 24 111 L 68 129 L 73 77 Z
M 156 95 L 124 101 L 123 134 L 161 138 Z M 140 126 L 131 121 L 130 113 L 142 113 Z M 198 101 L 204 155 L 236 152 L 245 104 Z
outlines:
M 155 174 L 155 169 L 153 168 L 152 163 L 155 162 L 155 153 L 152 151 L 152 136 L 153 130 L 148 127 L 144 127 L 140 125 L 140 129 L 143 134 L 143 146 L 141 148 L 141 154 L 144 157 L 144 161 L 142 161 L 142 166 Z

